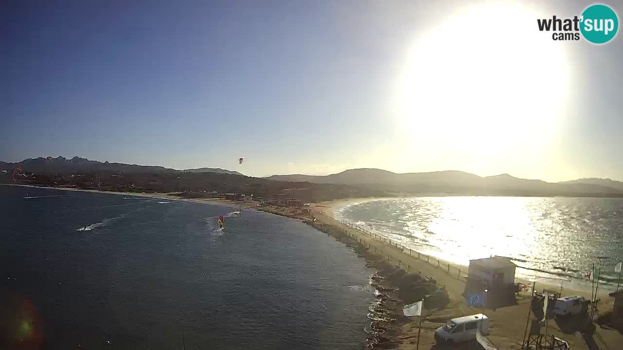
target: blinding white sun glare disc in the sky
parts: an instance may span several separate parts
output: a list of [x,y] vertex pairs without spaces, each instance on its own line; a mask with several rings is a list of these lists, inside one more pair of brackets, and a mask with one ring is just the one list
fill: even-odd
[[530,152],[554,138],[570,67],[536,18],[520,4],[487,4],[417,33],[392,95],[405,146]]

